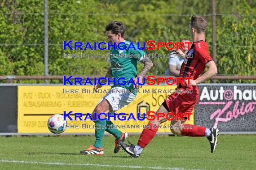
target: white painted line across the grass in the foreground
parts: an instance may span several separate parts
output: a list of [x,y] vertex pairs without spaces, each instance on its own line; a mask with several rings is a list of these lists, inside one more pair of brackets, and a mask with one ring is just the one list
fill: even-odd
[[37,162],[37,161],[10,161],[0,160],[0,162],[8,163],[26,163],[26,164],[44,164],[44,165],[67,165],[67,166],[100,166],[100,167],[117,167],[117,168],[131,168],[131,169],[153,169],[153,170],[185,170],[184,168],[171,168],[171,167],[150,167],[150,166],[122,166],[122,165],[101,165],[101,164],[90,164],[90,163],[64,163],[64,162]]

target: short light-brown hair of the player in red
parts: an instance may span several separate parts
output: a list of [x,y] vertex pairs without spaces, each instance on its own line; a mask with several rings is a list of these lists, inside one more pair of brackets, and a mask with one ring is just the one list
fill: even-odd
[[205,32],[207,30],[207,21],[203,17],[193,15],[190,20],[190,26],[196,29],[198,33]]

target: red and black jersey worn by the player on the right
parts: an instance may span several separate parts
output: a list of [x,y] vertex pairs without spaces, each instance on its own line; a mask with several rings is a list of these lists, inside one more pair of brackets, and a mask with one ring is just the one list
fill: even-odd
[[[180,77],[192,77],[192,79],[195,80],[203,73],[205,64],[212,61],[212,57],[208,52],[207,43],[202,40],[193,42],[187,55],[191,56],[191,58],[184,59],[181,65]],[[179,85],[179,88],[192,89],[193,87]]]

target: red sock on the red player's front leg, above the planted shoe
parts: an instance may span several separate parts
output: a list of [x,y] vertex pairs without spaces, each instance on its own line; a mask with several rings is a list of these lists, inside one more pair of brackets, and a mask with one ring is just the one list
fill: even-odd
[[[152,123],[148,123],[147,126],[150,126],[149,129],[143,129],[140,139],[138,141],[138,145],[145,148],[147,144],[154,138],[156,132],[158,131],[158,125],[153,125]],[[154,128],[153,128],[154,127]]]

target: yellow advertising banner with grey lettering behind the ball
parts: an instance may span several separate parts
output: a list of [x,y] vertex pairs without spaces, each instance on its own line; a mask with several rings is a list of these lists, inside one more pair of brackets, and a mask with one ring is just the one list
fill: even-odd
[[[103,86],[101,89],[108,90],[110,86]],[[142,132],[143,125],[146,125],[148,120],[137,120],[137,113],[142,116],[148,111],[156,111],[163,103],[164,99],[170,93],[163,93],[163,90],[175,89],[176,86],[168,85],[145,85],[137,93],[135,100],[128,106],[116,111],[116,113],[125,113],[126,119],[133,113],[136,120],[110,120],[121,127],[129,125],[130,128],[120,128],[125,132]],[[65,89],[65,90],[64,90]],[[76,90],[78,93],[63,93],[66,90]],[[90,90],[91,93],[82,93],[84,89]],[[156,93],[153,93],[156,92]],[[68,125],[77,125],[79,128],[66,129],[64,133],[94,133],[93,121],[86,120],[87,113],[92,113],[93,109],[106,93],[93,93],[93,86],[18,86],[18,133],[49,133],[47,121],[51,115],[63,115],[64,111],[70,114],[73,121],[67,119]],[[74,113],[82,113],[83,120],[75,120]],[[120,116],[121,117],[121,116]],[[141,117],[143,118],[143,117]],[[190,121],[187,123],[194,124],[194,114],[190,116]],[[82,124],[90,125],[82,128]],[[132,126],[133,125],[133,126]],[[163,125],[170,125],[170,121],[166,121]],[[123,126],[124,127],[124,126]],[[132,128],[136,127],[136,128]],[[138,128],[139,127],[139,128]],[[169,128],[159,128],[158,132],[171,132]]]

